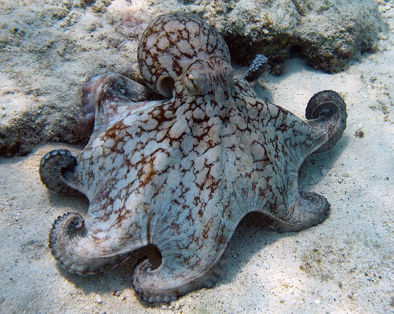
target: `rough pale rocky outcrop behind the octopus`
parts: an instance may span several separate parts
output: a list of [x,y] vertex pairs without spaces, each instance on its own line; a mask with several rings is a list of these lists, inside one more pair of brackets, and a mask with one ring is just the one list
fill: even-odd
[[84,144],[81,86],[116,72],[141,81],[139,37],[165,12],[199,14],[225,38],[233,64],[268,56],[279,74],[292,52],[337,72],[374,51],[382,20],[374,0],[4,1],[0,14],[0,154],[42,142]]

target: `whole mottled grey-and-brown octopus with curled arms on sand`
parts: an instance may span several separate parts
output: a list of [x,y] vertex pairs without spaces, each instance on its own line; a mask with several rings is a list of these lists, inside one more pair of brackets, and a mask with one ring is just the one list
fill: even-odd
[[61,266],[91,275],[132,258],[138,298],[170,302],[220,280],[248,213],[278,232],[323,222],[330,204],[299,191],[297,179],[305,158],[342,136],[338,93],[313,95],[305,120],[262,100],[252,85],[267,58],[234,77],[224,39],[190,13],[152,20],[138,64],[147,87],[119,74],[90,78],[89,142],[76,157],[58,149],[41,159],[49,190],[89,199],[84,218],[69,212],[53,223],[49,248]]

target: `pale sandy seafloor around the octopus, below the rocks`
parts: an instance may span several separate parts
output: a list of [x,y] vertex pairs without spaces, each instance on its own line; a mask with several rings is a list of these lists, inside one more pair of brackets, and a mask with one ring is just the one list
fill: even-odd
[[[393,7],[385,4],[391,27]],[[46,144],[25,157],[0,159],[0,312],[394,313],[394,36],[382,35],[378,47],[341,73],[312,69],[295,57],[282,75],[260,79],[262,98],[300,117],[322,89],[344,97],[342,139],[300,169],[301,188],[323,194],[331,214],[317,227],[283,234],[247,217],[233,235],[222,280],[170,304],[141,304],[127,262],[81,277],[51,256],[54,219],[68,211],[83,214],[88,204],[82,196],[47,191],[38,164],[52,149],[77,153],[77,147]]]

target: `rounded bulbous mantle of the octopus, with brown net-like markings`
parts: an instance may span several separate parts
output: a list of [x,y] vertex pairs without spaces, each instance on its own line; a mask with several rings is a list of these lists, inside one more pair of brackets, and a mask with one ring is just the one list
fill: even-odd
[[222,56],[230,63],[230,53],[220,34],[199,16],[174,12],[156,17],[142,34],[138,64],[145,83],[157,93],[159,78],[173,81],[196,59]]

